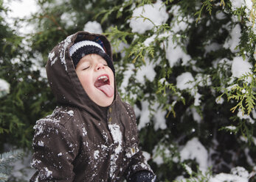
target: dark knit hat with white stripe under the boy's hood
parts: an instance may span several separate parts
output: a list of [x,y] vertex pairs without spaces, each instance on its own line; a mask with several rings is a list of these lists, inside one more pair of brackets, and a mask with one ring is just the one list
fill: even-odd
[[95,37],[94,40],[81,40],[69,48],[69,55],[72,58],[75,68],[80,59],[87,54],[98,54],[100,57],[103,57],[108,67],[115,73],[113,62],[108,54],[105,53],[103,42],[98,37]]

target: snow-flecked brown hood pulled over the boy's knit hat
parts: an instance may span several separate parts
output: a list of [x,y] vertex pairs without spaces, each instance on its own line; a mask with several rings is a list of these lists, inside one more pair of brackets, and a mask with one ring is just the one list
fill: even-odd
[[[98,106],[94,101],[91,101],[86,91],[75,72],[75,66],[72,58],[69,55],[69,48],[76,42],[81,40],[94,40],[99,37],[103,42],[105,52],[111,58],[113,63],[111,45],[107,38],[102,34],[91,34],[89,32],[77,32],[66,37],[65,40],[58,43],[55,48],[49,53],[48,61],[46,63],[46,73],[49,85],[52,89],[57,102],[63,105],[75,106],[80,109],[85,109],[90,114],[97,116],[105,109]],[[117,86],[115,81],[115,102],[117,98]],[[112,104],[113,104],[112,103]]]

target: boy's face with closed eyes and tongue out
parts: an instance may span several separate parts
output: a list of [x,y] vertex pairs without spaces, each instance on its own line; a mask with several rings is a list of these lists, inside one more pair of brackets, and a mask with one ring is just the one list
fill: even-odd
[[75,69],[87,95],[99,106],[109,106],[114,99],[114,73],[98,54],[88,54]]

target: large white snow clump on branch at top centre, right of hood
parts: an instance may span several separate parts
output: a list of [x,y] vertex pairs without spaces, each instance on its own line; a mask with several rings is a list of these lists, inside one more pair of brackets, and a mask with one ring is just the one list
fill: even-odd
[[[148,21],[148,19],[138,18],[140,16],[149,18],[153,23]],[[168,14],[166,12],[165,4],[163,4],[162,1],[158,0],[155,4],[145,4],[134,10],[130,21],[131,31],[144,34],[147,30],[151,30],[154,24],[159,26],[162,23],[165,23],[167,19]]]

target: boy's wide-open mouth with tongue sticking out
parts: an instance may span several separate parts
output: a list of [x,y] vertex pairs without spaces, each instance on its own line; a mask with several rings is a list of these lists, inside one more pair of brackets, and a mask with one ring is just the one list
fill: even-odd
[[109,98],[114,95],[114,88],[110,85],[108,75],[99,76],[94,82],[94,87],[105,93]]

